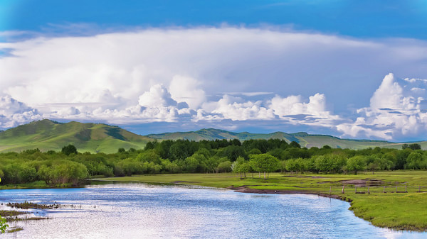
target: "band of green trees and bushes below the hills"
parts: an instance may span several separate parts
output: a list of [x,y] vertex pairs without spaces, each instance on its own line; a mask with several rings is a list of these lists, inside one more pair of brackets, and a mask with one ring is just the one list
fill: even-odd
[[78,185],[88,177],[133,174],[236,172],[356,173],[369,170],[427,169],[427,152],[418,144],[401,150],[302,148],[285,140],[162,140],[144,149],[119,148],[116,153],[78,152],[66,145],[60,152],[25,150],[0,154],[0,184],[43,181],[51,186]]

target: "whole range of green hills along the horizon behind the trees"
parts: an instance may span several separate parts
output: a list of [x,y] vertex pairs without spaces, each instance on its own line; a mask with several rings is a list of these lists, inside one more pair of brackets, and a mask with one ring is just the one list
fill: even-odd
[[[310,135],[308,133],[234,133],[215,128],[201,129],[189,132],[159,133],[137,135],[118,126],[103,123],[58,123],[44,119],[33,121],[16,128],[0,131],[0,152],[28,150],[39,148],[42,151],[60,150],[64,145],[73,144],[79,152],[117,152],[118,148],[143,148],[152,140],[216,140],[216,139],[270,139],[278,138],[288,142],[296,141],[303,147],[321,148],[330,145],[332,148],[401,148],[403,143],[393,143],[381,140],[349,140],[330,135]],[[427,148],[427,141],[417,142],[422,148]]]

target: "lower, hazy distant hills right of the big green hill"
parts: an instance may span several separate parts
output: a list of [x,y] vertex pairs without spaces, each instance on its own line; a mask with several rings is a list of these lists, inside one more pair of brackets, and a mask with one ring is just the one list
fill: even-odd
[[[250,139],[270,139],[278,138],[289,142],[296,141],[303,147],[321,148],[323,145],[330,145],[332,148],[351,148],[351,149],[362,149],[362,148],[401,148],[403,143],[393,143],[381,140],[350,140],[337,138],[330,135],[310,135],[305,132],[299,133],[234,133],[226,130],[218,130],[215,128],[204,128],[197,131],[189,132],[176,132],[176,133],[159,133],[146,135],[149,138],[157,140],[216,140],[216,139],[234,139],[238,140],[250,140]],[[422,148],[427,148],[427,141],[416,142],[421,145]]]

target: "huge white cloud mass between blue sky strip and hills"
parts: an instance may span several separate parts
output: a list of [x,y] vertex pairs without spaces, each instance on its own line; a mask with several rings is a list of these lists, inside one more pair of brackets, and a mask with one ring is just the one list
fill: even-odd
[[[426,131],[425,80],[371,83],[394,68],[423,76],[423,41],[224,27],[38,36],[1,50],[1,129],[54,118],[274,121],[354,138]],[[357,117],[343,116],[350,104]]]

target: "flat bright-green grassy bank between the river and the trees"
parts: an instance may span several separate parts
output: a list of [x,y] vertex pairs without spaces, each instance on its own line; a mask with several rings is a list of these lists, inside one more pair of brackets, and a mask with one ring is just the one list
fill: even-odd
[[302,192],[323,196],[331,194],[333,197],[351,201],[350,209],[354,214],[371,222],[374,226],[399,230],[427,230],[426,171],[375,172],[375,174],[362,172],[358,175],[274,173],[270,174],[267,180],[262,176],[258,178],[258,174],[253,174],[253,177],[252,174],[246,174],[246,176],[246,179],[240,179],[238,175],[229,173],[155,174],[104,179],[119,182],[234,187],[265,193],[277,191],[278,193]]

